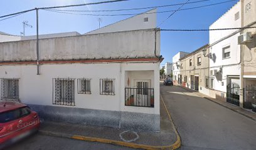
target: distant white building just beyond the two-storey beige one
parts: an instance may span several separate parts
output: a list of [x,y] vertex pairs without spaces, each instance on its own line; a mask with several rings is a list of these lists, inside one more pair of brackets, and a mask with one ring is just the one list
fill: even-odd
[[173,56],[173,83],[181,84],[181,78],[180,78],[180,68],[181,64],[179,59],[183,58],[184,56],[188,55],[189,53],[180,51],[176,55]]

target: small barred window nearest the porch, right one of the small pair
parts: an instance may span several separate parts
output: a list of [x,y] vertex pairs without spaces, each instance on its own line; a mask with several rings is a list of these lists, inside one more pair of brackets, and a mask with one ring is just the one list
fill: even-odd
[[115,79],[100,79],[100,94],[115,95]]

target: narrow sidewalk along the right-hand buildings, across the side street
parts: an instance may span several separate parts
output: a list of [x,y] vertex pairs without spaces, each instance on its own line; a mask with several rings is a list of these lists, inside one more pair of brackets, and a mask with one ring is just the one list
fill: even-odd
[[198,91],[194,91],[193,89],[185,88],[183,86],[180,86],[183,89],[186,89],[188,91],[194,92],[198,94],[199,96],[206,98],[216,104],[220,104],[221,106],[228,108],[232,111],[235,111],[238,114],[242,114],[243,116],[252,119],[253,121],[256,121],[256,113],[253,113],[252,111],[248,111],[247,109],[240,108],[239,106],[235,106],[233,104],[227,103],[225,101],[221,101],[220,99],[211,98],[210,96],[207,96],[205,94],[199,93]]

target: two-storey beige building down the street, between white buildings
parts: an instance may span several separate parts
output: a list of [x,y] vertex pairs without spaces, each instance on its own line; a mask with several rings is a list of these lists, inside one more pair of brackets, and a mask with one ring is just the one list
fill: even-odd
[[179,59],[182,86],[209,94],[208,44]]

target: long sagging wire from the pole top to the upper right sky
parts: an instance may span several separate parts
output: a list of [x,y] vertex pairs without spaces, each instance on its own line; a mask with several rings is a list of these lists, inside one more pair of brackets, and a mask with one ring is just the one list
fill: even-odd
[[[237,0],[230,0],[230,1],[223,1],[223,2],[217,2],[214,4],[207,4],[207,5],[203,5],[203,6],[196,6],[196,7],[192,7],[192,8],[184,8],[184,9],[179,9],[178,11],[186,11],[189,9],[197,9],[197,8],[205,8],[208,6],[215,6],[218,4],[224,4],[227,2],[232,2],[232,1],[237,1]],[[73,15],[82,15],[82,16],[132,16],[132,15],[137,15],[137,14],[159,14],[159,13],[166,13],[166,12],[175,12],[177,10],[169,10],[169,11],[158,11],[158,12],[142,12],[142,13],[132,13],[132,14],[81,14],[81,13],[73,13],[70,12],[70,10],[68,10],[68,12],[65,12],[65,10],[62,11],[57,11],[55,9],[44,9],[45,11],[52,11],[52,12],[58,12],[58,13],[62,13],[62,14],[73,14]]]

